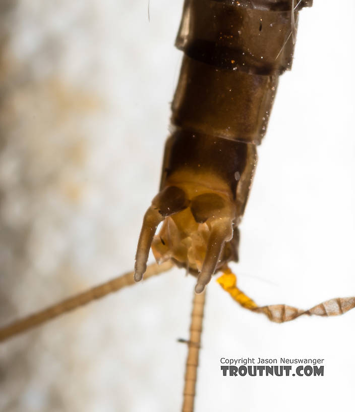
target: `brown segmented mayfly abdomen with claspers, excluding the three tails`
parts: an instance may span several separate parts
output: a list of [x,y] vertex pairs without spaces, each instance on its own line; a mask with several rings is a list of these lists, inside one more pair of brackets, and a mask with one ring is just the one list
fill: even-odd
[[[160,192],[136,255],[138,281],[150,246],[198,274],[238,261],[239,232],[278,76],[290,69],[301,0],[186,0],[176,46],[185,56],[172,101]],[[168,204],[168,207],[167,207]],[[154,236],[164,221],[158,236]]]

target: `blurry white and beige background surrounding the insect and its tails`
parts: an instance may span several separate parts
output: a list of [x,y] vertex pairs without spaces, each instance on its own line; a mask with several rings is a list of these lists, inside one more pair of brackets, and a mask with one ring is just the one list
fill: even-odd
[[[0,321],[131,270],[156,194],[182,2],[1,3]],[[241,226],[239,285],[308,308],[355,294],[352,0],[300,14]],[[174,270],[0,345],[0,410],[180,410],[195,280]],[[197,411],[353,402],[354,313],[278,325],[207,288]],[[324,377],[222,377],[221,357]]]

